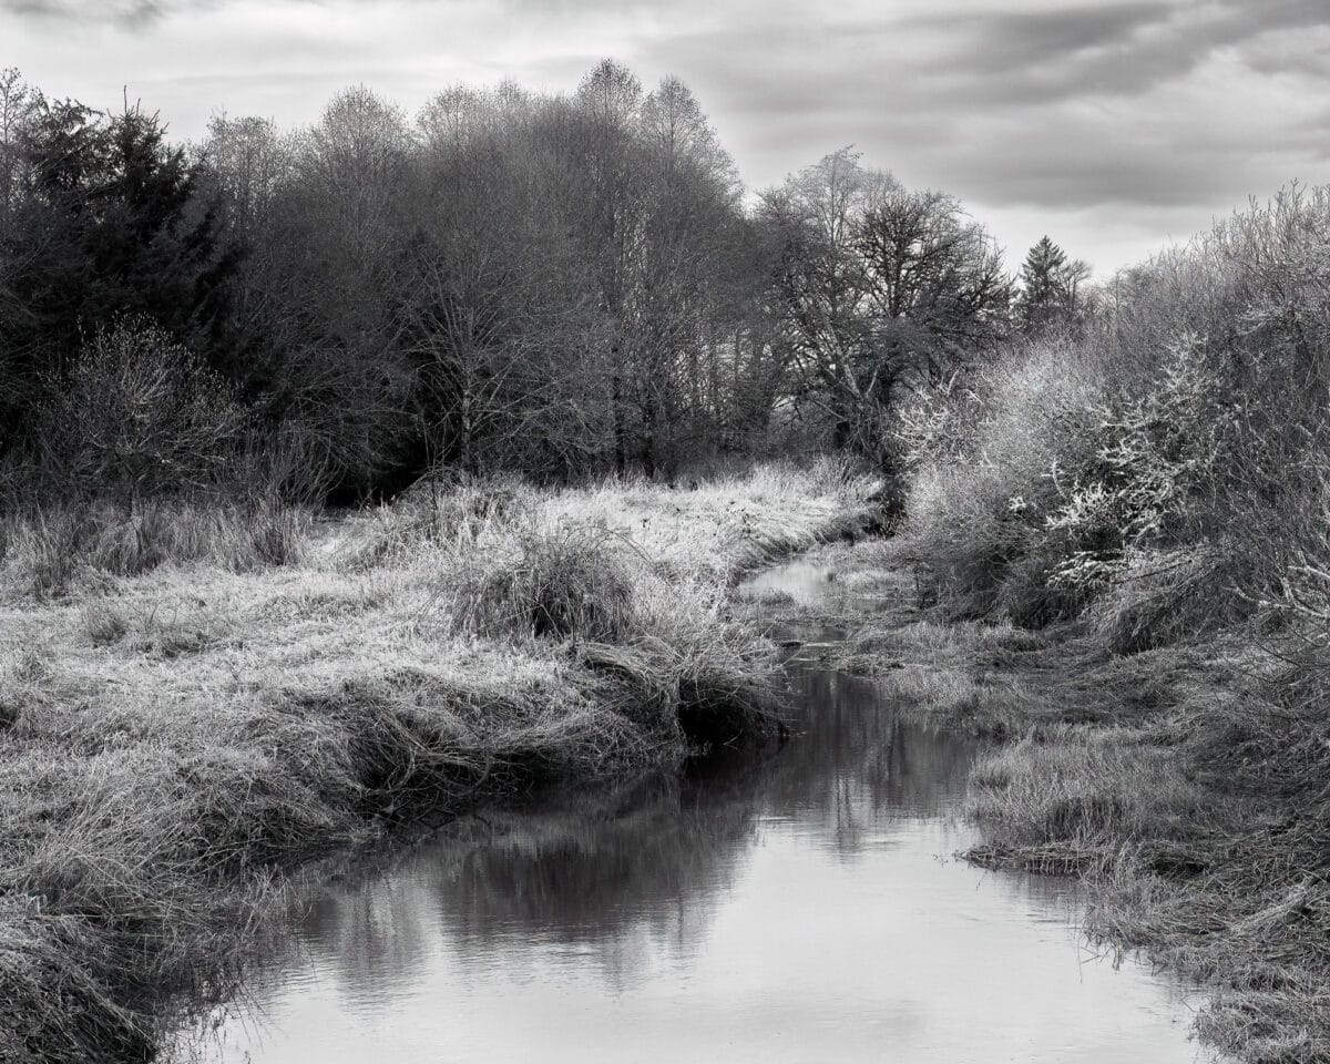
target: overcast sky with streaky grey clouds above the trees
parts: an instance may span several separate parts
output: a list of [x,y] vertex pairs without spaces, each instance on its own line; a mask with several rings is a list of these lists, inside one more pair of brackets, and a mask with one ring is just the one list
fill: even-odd
[[1048,234],[1108,277],[1297,180],[1330,182],[1330,0],[0,0],[48,96],[313,121],[366,84],[415,112],[600,59],[681,77],[747,188],[853,145],[958,196],[1015,269]]

